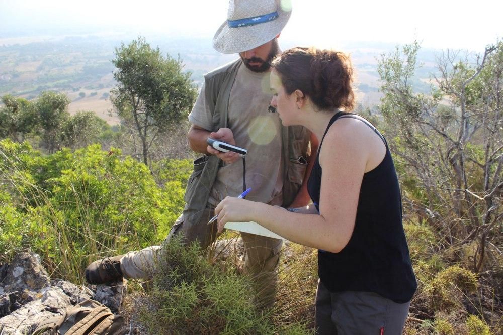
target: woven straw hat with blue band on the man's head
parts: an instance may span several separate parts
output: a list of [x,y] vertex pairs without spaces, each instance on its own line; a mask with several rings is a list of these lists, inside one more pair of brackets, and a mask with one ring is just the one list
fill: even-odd
[[254,49],[281,33],[291,13],[289,0],[230,0],[213,48],[224,54]]

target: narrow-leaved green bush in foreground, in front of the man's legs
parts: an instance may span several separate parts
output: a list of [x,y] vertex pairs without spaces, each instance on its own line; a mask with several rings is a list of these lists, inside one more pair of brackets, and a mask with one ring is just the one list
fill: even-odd
[[[271,314],[252,301],[249,277],[212,267],[194,243],[174,238],[164,248],[153,289],[138,306],[150,334],[274,334]],[[293,322],[292,322],[293,323]],[[282,334],[307,334],[302,323],[283,324]]]

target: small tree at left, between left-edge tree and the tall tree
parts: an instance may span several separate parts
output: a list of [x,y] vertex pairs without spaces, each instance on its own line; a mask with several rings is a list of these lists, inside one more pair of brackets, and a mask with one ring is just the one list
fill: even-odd
[[42,92],[34,102],[38,116],[37,134],[42,140],[42,146],[49,153],[59,149],[62,141],[62,127],[70,117],[68,105],[70,100],[64,93],[52,91]]

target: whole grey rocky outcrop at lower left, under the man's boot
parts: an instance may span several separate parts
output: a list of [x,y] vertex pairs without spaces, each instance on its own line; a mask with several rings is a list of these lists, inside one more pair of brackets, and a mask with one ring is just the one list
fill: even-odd
[[0,334],[31,334],[41,322],[89,298],[117,312],[124,291],[123,282],[98,285],[95,293],[62,279],[51,281],[37,254],[19,253],[10,265],[0,266]]

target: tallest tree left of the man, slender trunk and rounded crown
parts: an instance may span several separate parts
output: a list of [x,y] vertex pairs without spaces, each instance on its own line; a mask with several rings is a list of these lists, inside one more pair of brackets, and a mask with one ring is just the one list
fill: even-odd
[[118,82],[111,91],[112,103],[140,138],[143,163],[148,165],[156,137],[185,118],[194,103],[190,73],[183,73],[180,59],[164,58],[141,37],[116,48],[112,62]]

